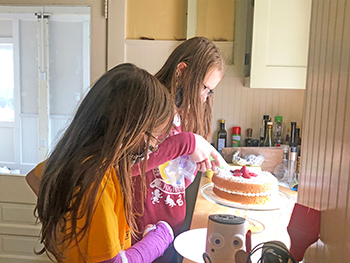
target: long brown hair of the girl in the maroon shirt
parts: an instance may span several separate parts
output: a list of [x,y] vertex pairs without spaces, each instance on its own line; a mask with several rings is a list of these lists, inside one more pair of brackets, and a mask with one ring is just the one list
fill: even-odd
[[[178,65],[187,67],[178,76]],[[202,135],[207,140],[211,134],[212,98],[201,101],[205,76],[219,70],[225,72],[225,62],[215,44],[205,37],[194,37],[180,44],[169,56],[156,77],[176,98],[182,119],[183,131]]]

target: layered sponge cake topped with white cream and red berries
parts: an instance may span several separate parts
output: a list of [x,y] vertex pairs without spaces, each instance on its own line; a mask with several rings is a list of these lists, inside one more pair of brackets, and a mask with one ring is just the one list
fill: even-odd
[[[253,170],[253,169],[251,169]],[[248,167],[219,169],[213,174],[213,192],[224,199],[241,204],[266,204],[278,192],[277,178],[269,172]]]

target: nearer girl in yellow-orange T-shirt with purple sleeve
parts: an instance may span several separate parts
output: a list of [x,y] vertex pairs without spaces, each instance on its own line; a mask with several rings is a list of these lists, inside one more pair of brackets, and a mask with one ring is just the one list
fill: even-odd
[[[96,82],[46,161],[36,208],[45,246],[39,254],[59,262],[152,262],[163,253],[173,239],[165,222],[130,247],[137,232],[131,166],[157,147],[172,119],[169,93],[132,64]],[[147,158],[142,182],[146,165]]]

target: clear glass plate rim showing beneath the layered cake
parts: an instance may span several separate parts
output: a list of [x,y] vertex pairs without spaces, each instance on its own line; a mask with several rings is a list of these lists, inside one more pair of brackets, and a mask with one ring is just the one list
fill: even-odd
[[278,210],[280,207],[282,207],[283,204],[289,199],[289,196],[279,191],[278,194],[271,197],[271,201],[264,205],[245,205],[240,203],[235,203],[232,201],[228,201],[226,199],[223,199],[219,196],[217,196],[213,192],[213,183],[209,183],[206,185],[203,185],[201,188],[201,193],[207,200],[214,202],[219,205],[231,207],[231,208],[237,208],[237,209],[243,209],[243,210],[252,210],[252,211],[270,211],[270,210]]

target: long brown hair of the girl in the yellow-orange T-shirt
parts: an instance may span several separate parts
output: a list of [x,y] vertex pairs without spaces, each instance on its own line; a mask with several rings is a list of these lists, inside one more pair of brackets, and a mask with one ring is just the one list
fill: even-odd
[[[41,241],[58,261],[64,258],[63,245],[79,242],[85,235],[99,200],[102,179],[112,168],[124,197],[127,223],[135,233],[130,154],[138,144],[144,144],[144,134],[152,134],[160,124],[167,122],[164,133],[169,132],[173,105],[163,85],[132,64],[109,70],[90,89],[47,160],[39,190]],[[145,167],[146,161],[143,191]],[[81,218],[86,220],[78,229]]]

